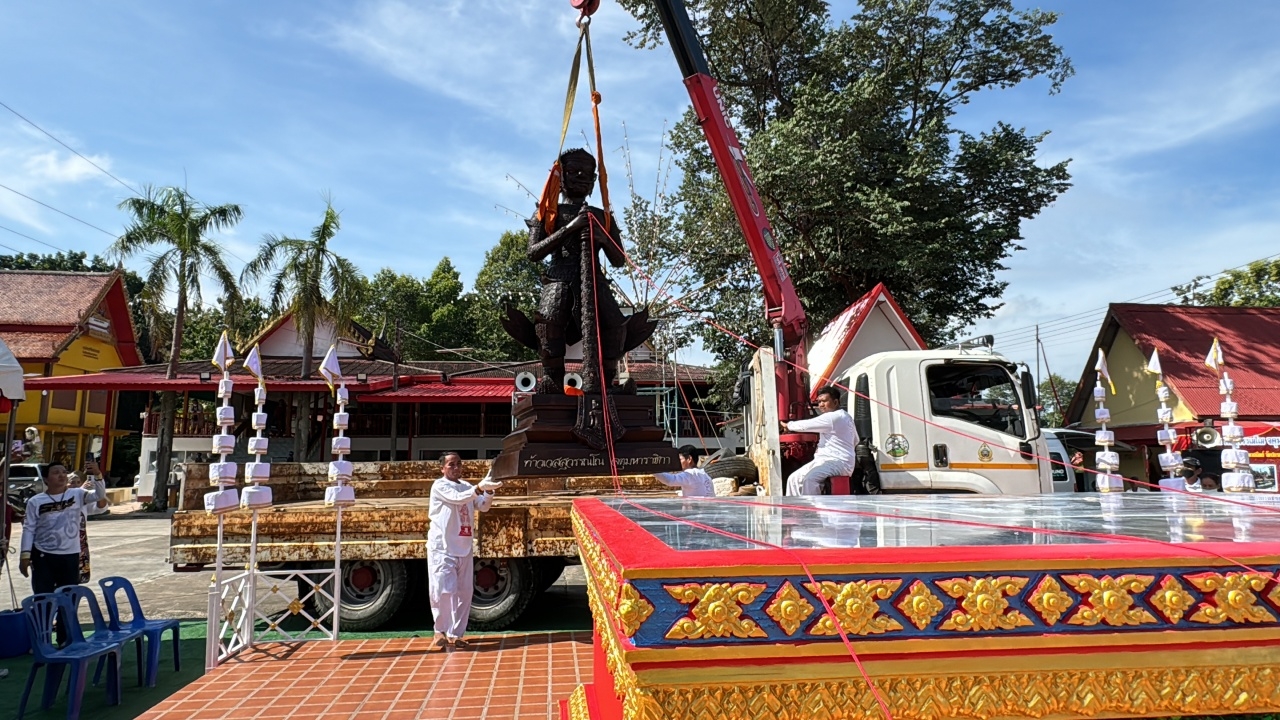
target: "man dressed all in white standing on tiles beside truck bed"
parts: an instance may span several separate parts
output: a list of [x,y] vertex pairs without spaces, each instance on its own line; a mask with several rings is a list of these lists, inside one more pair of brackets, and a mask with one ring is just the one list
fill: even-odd
[[430,583],[431,618],[435,637],[428,652],[445,646],[467,647],[462,635],[471,615],[471,591],[475,585],[475,564],[471,560],[471,538],[475,514],[489,510],[493,491],[502,483],[485,478],[479,487],[462,479],[462,456],[445,452],[440,456],[444,477],[431,483],[431,503],[426,530],[426,571]]

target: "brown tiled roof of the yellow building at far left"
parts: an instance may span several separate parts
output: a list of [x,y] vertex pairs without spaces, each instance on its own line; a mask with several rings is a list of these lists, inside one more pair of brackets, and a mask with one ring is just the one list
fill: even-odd
[[0,340],[19,360],[55,360],[99,309],[111,319],[120,361],[142,363],[120,270],[0,270]]

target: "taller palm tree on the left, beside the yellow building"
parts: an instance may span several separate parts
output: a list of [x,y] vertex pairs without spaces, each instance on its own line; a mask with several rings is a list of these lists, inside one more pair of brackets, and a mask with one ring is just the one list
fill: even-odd
[[[164,314],[163,299],[173,292],[177,307],[173,313],[173,336],[169,343],[169,368],[165,377],[178,377],[182,355],[182,331],[191,302],[201,302],[201,275],[218,286],[228,315],[239,305],[239,287],[236,275],[227,268],[221,247],[207,236],[234,225],[243,217],[239,205],[207,206],[197,202],[186,190],[178,187],[154,188],[147,186],[138,197],[120,202],[132,220],[111,243],[110,254],[123,260],[145,250],[152,250],[146,272],[145,300],[152,327]],[[160,323],[163,324],[163,322]],[[173,423],[177,413],[177,393],[160,393],[160,433],[156,438],[155,506],[165,510],[169,503],[169,457],[173,454]]]

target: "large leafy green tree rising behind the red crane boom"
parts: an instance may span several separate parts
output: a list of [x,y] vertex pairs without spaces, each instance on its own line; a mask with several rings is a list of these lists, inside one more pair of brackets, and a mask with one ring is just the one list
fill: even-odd
[[[662,41],[648,0],[620,0],[640,22],[630,40]],[[774,220],[810,327],[883,282],[931,342],[989,316],[1021,220],[1064,192],[1066,163],[1036,161],[1043,133],[997,123],[955,127],[983,90],[1073,73],[1047,33],[1056,15],[1009,0],[867,0],[831,22],[819,0],[689,0],[724,108]],[[714,19],[714,22],[713,22]],[[698,309],[768,340],[759,278],[691,110],[671,145],[684,181],[678,232],[641,252],[681,259]],[[649,242],[637,238],[637,242]],[[722,360],[744,350],[704,329]]]

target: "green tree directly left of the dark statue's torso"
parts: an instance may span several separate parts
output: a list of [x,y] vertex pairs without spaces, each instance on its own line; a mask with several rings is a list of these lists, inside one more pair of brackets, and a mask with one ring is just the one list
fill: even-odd
[[484,255],[472,287],[476,357],[495,361],[534,360],[538,354],[502,328],[502,305],[511,302],[532,318],[541,290],[541,265],[529,259],[529,234],[508,231]]

